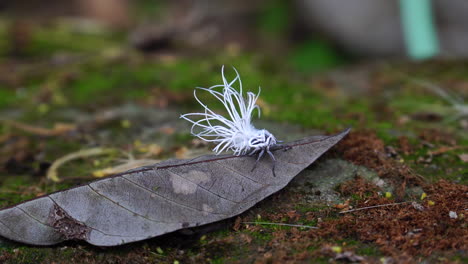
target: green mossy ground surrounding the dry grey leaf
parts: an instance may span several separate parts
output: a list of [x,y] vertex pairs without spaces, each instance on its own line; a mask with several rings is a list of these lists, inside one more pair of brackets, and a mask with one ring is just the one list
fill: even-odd
[[[0,36],[6,34],[6,24],[0,23]],[[6,39],[0,38],[0,47],[4,47],[0,50],[8,50]],[[117,114],[104,120],[99,117],[104,110],[128,103],[156,112],[170,109],[172,113],[185,113],[196,109],[193,88],[219,83],[221,65],[228,66],[228,72],[231,65],[237,68],[244,89],[257,91],[258,86],[262,87],[259,101],[262,119],[278,127],[290,123],[300,125],[304,131],[318,129],[323,133],[348,126],[354,131],[370,131],[383,142],[383,155],[408,166],[428,184],[440,179],[467,184],[467,163],[461,158],[468,153],[466,117],[452,119],[456,113],[450,104],[411,82],[411,79],[422,79],[437,83],[466,98],[468,67],[465,62],[362,65],[359,67],[366,72],[365,77],[355,83],[343,83],[342,77],[353,79],[351,69],[310,74],[320,65],[305,67],[303,61],[297,62],[302,47],[286,60],[232,48],[203,54],[174,52],[147,56],[120,44],[121,40],[118,34],[72,34],[64,26],[40,28],[34,35],[33,45],[27,49],[26,58],[0,59],[1,207],[89,181],[94,171],[122,163],[120,159],[127,158],[125,153],[135,158],[165,159],[186,157],[187,149],[196,147],[207,150],[207,146],[192,142],[188,130],[179,125],[177,114],[173,121],[167,122],[168,126],[156,132],[151,132],[154,129],[151,121],[141,119],[145,113],[141,109],[136,115]],[[52,55],[57,56],[57,51],[60,59],[51,59]],[[305,52],[314,54],[310,50]],[[330,63],[326,59],[325,68],[335,61],[339,60]],[[356,88],[361,84],[364,90]],[[21,122],[33,129],[5,120]],[[53,127],[60,123],[74,127],[59,133]],[[34,128],[47,128],[49,134]],[[161,151],[156,147],[145,148],[154,142],[158,142]],[[46,168],[53,161],[96,146],[118,149],[120,154],[74,160],[59,168],[62,183],[46,180]],[[330,155],[344,158],[337,151]],[[350,197],[355,203],[362,200],[357,194]],[[239,219],[315,226],[340,217],[336,208],[307,204],[301,200],[301,194],[286,188]],[[386,256],[378,245],[359,236],[315,239],[305,246],[296,242],[303,241],[311,232],[302,228],[227,223],[221,231],[189,239],[166,235],[116,248],[97,248],[79,242],[54,247],[2,242],[0,262],[268,263],[274,262],[271,253],[274,248],[279,252],[275,253],[278,260],[327,263],[331,255],[323,250],[324,245],[351,250],[371,262]],[[188,242],[181,243],[183,240]],[[278,245],[281,243],[284,244]],[[466,253],[449,250],[423,257],[466,261]]]

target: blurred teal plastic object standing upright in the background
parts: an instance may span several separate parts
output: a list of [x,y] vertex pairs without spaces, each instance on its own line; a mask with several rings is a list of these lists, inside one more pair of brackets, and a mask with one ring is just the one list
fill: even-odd
[[422,60],[439,54],[431,1],[400,0],[400,13],[408,55]]

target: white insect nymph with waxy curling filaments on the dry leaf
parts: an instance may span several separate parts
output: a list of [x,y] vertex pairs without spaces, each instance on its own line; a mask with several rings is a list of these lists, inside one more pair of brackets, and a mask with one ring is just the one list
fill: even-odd
[[[191,122],[192,135],[216,144],[213,149],[216,154],[223,151],[233,151],[234,155],[254,155],[258,154],[260,159],[265,153],[275,160],[270,151],[277,141],[275,136],[265,129],[256,129],[252,123],[252,114],[257,109],[260,117],[260,108],[256,105],[258,94],[247,92],[247,98],[242,94],[242,82],[236,69],[236,77],[228,82],[224,76],[224,66],[221,69],[223,84],[214,85],[210,88],[197,87],[198,90],[209,92],[219,100],[226,109],[227,117],[212,111],[197,97],[197,90],[194,91],[195,99],[204,108],[203,113],[188,113],[181,115],[181,118]],[[239,83],[239,91],[232,86]],[[201,117],[199,120],[191,118]],[[257,159],[257,161],[258,161]]]

